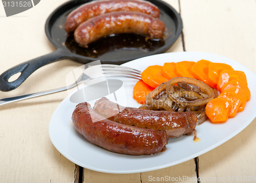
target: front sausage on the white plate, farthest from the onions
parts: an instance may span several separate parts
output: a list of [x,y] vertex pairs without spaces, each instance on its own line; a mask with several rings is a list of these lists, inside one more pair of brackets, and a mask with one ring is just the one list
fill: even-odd
[[142,155],[166,149],[165,131],[143,129],[119,124],[95,112],[87,102],[76,106],[72,121],[75,129],[91,143],[113,152]]

